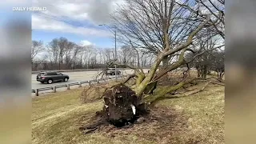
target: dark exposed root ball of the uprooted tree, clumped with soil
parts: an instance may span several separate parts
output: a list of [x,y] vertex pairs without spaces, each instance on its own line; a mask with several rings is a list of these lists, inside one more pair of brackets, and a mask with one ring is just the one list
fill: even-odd
[[128,86],[118,84],[103,94],[104,106],[102,111],[98,111],[93,124],[84,126],[80,130],[94,131],[102,124],[112,124],[117,127],[129,125],[144,114],[148,114],[148,109],[142,98],[135,95],[135,92]]

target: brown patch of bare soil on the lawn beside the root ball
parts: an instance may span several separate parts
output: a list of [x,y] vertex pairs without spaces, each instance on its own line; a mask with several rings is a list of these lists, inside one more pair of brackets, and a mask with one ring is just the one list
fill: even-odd
[[[84,119],[81,119],[80,123]],[[150,113],[138,118],[130,125],[115,127],[110,124],[99,126],[93,133],[103,134],[108,138],[127,138],[127,135],[133,134],[138,138],[156,143],[179,143],[184,142],[180,137],[186,134],[188,130],[188,118],[180,110],[166,108],[164,106],[153,107]],[[181,139],[182,138],[182,139]],[[187,140],[186,143],[198,143]]]

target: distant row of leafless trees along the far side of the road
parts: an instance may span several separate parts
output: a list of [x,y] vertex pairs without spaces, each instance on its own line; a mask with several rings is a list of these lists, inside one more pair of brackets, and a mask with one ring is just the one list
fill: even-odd
[[[118,62],[142,67],[154,62],[152,54],[143,54],[130,46],[117,49]],[[49,43],[33,41],[31,50],[32,70],[74,70],[106,68],[107,62],[114,59],[114,48],[81,46],[66,38],[54,38]],[[138,61],[139,59],[139,61]]]

